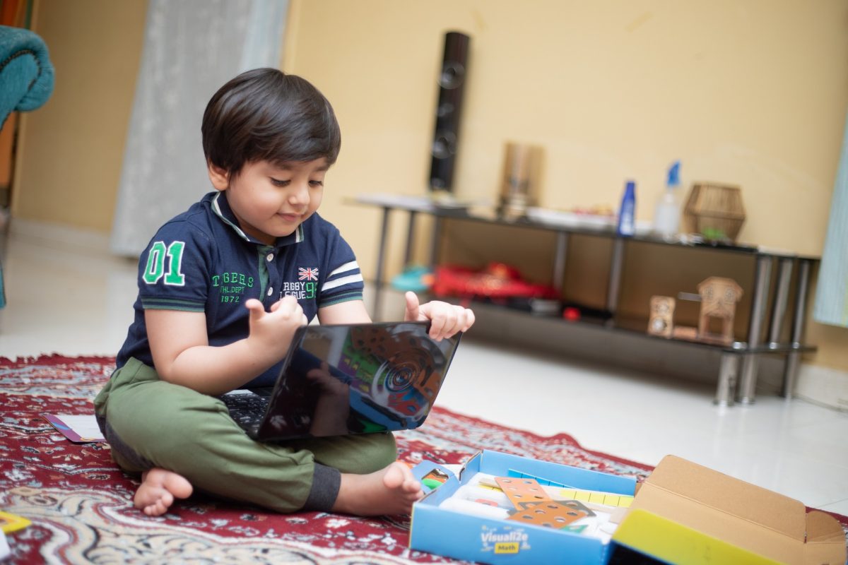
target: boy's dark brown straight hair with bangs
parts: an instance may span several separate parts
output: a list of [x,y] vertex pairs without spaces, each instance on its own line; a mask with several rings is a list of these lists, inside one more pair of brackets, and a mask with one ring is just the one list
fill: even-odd
[[209,100],[200,127],[209,163],[232,175],[245,163],[336,162],[342,136],[315,86],[278,69],[248,70]]

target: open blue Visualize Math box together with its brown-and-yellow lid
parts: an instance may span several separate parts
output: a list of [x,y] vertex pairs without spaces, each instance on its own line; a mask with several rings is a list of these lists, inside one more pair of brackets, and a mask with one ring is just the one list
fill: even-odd
[[[680,457],[664,457],[636,489],[635,480],[586,469],[481,451],[458,476],[449,474],[412,511],[410,547],[448,557],[510,565],[604,565],[619,546],[672,564],[791,563],[845,565],[845,532],[824,512],[806,512],[800,501],[750,485]],[[507,476],[510,470],[578,489],[636,494],[610,543],[564,530],[511,520],[479,518],[439,508],[474,474]]]

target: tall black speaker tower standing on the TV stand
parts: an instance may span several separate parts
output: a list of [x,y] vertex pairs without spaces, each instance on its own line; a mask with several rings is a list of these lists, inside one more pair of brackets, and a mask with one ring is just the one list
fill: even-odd
[[453,190],[454,164],[470,41],[469,36],[458,31],[449,31],[444,36],[442,72],[438,77],[436,133],[432,141],[431,191]]

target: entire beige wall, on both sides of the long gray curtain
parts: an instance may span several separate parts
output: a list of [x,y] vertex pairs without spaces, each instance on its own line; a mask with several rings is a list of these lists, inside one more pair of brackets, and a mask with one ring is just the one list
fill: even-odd
[[[27,116],[14,214],[105,233],[146,3],[38,8],[57,89]],[[695,180],[742,187],[740,239],[819,254],[848,108],[846,17],[844,0],[293,0],[282,68],[312,80],[336,108],[343,149],[321,212],[366,274],[380,215],[347,200],[426,192],[446,30],[472,37],[461,199],[494,201],[504,144],[523,141],[544,147],[545,207],[615,208],[633,178],[637,216],[650,220],[679,158],[687,189]],[[402,217],[394,220],[391,272],[405,236]],[[516,246],[499,239],[466,258],[482,263],[491,249]],[[523,254],[542,262],[546,248],[533,243]],[[811,323],[808,335],[820,346],[813,363],[848,370],[848,330]]]

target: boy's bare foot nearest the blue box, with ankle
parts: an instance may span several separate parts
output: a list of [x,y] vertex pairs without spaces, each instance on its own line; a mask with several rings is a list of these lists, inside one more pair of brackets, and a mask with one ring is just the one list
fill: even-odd
[[356,516],[409,514],[421,496],[421,483],[410,468],[395,461],[371,474],[343,473],[332,510]]

